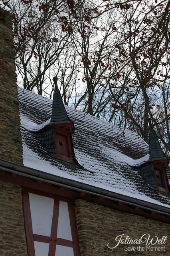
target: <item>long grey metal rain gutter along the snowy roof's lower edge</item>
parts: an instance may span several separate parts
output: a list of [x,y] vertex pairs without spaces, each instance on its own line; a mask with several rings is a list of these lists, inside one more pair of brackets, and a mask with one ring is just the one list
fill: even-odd
[[38,179],[40,181],[45,181],[51,184],[67,187],[69,189],[85,192],[94,196],[115,200],[117,202],[130,204],[132,206],[142,207],[146,210],[150,210],[150,211],[154,211],[160,214],[165,214],[170,216],[170,208],[168,207],[160,206],[157,204],[146,202],[144,200],[132,198],[130,196],[125,196],[125,195],[115,193],[106,189],[101,189],[99,187],[88,185],[80,181],[74,181],[71,179],[62,178],[57,175],[45,173],[43,171],[32,169],[24,165],[6,161],[4,159],[0,159],[0,169],[2,169],[3,171],[9,171],[11,173],[15,173],[25,177]]

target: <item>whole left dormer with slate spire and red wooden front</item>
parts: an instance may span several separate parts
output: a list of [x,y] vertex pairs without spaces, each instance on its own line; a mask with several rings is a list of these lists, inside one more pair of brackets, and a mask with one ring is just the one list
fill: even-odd
[[57,77],[54,77],[53,81],[55,83],[55,90],[53,94],[51,119],[36,135],[39,137],[43,149],[52,157],[69,163],[77,163],[71,138],[74,125],[67,116],[57,87]]

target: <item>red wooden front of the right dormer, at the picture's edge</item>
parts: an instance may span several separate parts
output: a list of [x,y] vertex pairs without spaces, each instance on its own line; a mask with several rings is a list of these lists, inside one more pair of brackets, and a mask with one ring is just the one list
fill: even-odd
[[166,180],[165,168],[168,165],[169,159],[155,160],[152,162],[154,174],[156,177],[157,189],[159,191],[170,194],[168,183]]

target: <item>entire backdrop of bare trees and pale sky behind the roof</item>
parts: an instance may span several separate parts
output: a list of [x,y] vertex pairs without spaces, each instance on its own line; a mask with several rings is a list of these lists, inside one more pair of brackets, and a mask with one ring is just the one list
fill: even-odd
[[18,77],[52,96],[137,132],[148,117],[170,152],[170,0],[9,0],[15,15]]

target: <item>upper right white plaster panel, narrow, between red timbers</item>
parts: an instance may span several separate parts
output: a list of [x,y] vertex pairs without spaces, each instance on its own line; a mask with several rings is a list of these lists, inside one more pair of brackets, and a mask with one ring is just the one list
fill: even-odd
[[62,201],[59,202],[57,238],[72,241],[68,204]]

